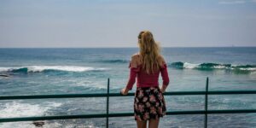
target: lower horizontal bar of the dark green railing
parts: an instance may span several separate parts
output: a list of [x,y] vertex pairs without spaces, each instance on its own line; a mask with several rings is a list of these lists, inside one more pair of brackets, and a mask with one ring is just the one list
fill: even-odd
[[[204,110],[189,110],[189,111],[172,111],[166,112],[166,115],[177,114],[203,114]],[[233,109],[233,110],[208,110],[208,114],[211,113],[256,113],[256,109]],[[133,116],[134,113],[109,113],[108,117],[127,117]],[[89,118],[106,118],[106,113],[96,114],[79,114],[79,115],[60,115],[60,116],[44,116],[44,117],[20,117],[20,118],[3,118],[0,119],[0,123],[3,122],[16,122],[16,121],[36,121],[36,120],[51,120],[51,119],[89,119]]]

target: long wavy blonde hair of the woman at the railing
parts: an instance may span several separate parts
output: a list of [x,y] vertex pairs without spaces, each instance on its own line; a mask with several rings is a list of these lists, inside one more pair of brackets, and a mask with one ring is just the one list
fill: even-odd
[[163,65],[163,58],[160,55],[160,46],[154,41],[153,34],[149,31],[142,31],[138,35],[142,65],[146,73],[154,73],[160,70]]

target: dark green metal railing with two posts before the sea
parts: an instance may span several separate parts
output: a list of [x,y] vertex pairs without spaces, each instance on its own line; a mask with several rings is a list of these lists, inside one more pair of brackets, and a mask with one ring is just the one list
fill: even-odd
[[[166,115],[174,114],[204,114],[204,127],[207,128],[207,114],[211,113],[256,113],[256,109],[227,109],[227,110],[208,110],[208,95],[235,95],[235,94],[256,94],[256,90],[215,90],[208,91],[209,79],[207,78],[206,91],[172,91],[165,92],[165,96],[180,96],[180,95],[205,95],[205,110],[188,110],[188,111],[172,111],[166,112]],[[107,93],[96,94],[63,94],[63,95],[36,95],[36,96],[0,96],[0,100],[20,100],[20,99],[48,99],[48,98],[80,98],[80,97],[107,97],[106,113],[96,114],[77,114],[77,115],[59,115],[59,116],[44,116],[44,117],[19,117],[19,118],[2,118],[0,123],[15,122],[15,121],[34,121],[34,120],[49,120],[49,119],[88,119],[88,118],[106,118],[106,127],[108,128],[108,118],[110,117],[126,117],[133,116],[134,113],[108,113],[109,97],[122,96],[120,93],[109,93],[109,79]],[[134,93],[129,93],[126,96],[134,96]]]

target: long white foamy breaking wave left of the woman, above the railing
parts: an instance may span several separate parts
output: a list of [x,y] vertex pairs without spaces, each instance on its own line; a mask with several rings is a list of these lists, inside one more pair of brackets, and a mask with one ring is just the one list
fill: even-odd
[[67,72],[86,72],[103,71],[108,68],[97,67],[78,67],[78,66],[29,66],[29,67],[0,67],[0,72],[12,72],[21,69],[27,69],[27,72],[44,72],[45,70],[67,71]]

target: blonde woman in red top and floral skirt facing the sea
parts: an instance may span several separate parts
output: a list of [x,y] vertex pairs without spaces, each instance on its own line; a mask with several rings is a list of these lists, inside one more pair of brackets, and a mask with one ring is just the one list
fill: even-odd
[[[157,128],[160,117],[166,114],[166,102],[162,93],[169,84],[166,61],[160,55],[160,47],[154,42],[151,32],[143,31],[138,36],[139,53],[131,56],[130,79],[121,90],[127,95],[137,78],[137,90],[134,98],[134,116],[138,128]],[[163,84],[159,87],[159,74]]]

